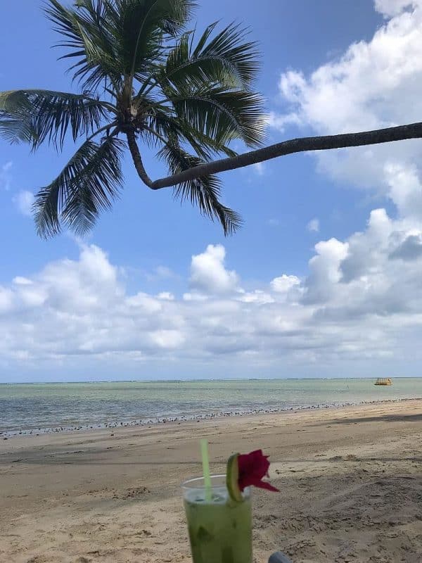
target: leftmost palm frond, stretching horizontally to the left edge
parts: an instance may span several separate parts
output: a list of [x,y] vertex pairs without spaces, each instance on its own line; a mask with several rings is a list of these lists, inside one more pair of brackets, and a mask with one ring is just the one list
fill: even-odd
[[45,140],[61,148],[69,129],[75,141],[100,127],[106,115],[106,103],[84,94],[35,89],[0,92],[0,135],[11,142],[28,142],[32,148]]

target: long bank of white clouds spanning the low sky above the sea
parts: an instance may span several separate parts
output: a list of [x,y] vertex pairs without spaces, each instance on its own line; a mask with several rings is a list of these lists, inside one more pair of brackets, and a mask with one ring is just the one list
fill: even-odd
[[116,366],[155,362],[162,374],[179,362],[198,377],[201,362],[226,365],[227,358],[239,372],[288,362],[290,374],[304,364],[390,362],[409,348],[417,361],[422,228],[414,223],[374,210],[363,232],[316,243],[303,281],[281,274],[245,291],[224,258],[224,248],[212,245],[192,257],[201,291],[190,297],[128,293],[122,268],[94,245],[82,247],[78,260],[16,276],[0,286],[1,361],[28,369],[64,362],[83,372],[89,358],[99,370],[114,358]]

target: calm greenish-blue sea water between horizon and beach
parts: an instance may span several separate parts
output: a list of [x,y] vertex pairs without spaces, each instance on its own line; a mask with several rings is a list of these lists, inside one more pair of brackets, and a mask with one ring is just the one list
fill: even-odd
[[0,384],[0,433],[422,398],[422,378]]

